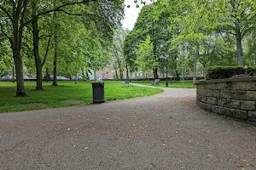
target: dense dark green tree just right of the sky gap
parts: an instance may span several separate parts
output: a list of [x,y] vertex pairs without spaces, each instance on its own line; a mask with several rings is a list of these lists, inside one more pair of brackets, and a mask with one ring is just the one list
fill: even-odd
[[[165,13],[161,13],[158,17],[155,17],[154,6],[154,3],[143,6],[133,30],[126,37],[124,44],[126,60],[132,60],[134,58],[132,50],[134,51],[137,48],[137,44],[143,42],[147,35],[151,37],[151,41],[154,44],[154,57],[159,63],[161,61],[161,56],[168,51],[167,41],[172,34],[172,31],[168,29],[169,21],[167,18],[169,17],[169,14],[166,11]],[[131,61],[130,64],[132,65]],[[160,65],[155,65],[155,67],[152,68],[154,78],[158,78],[159,67]]]

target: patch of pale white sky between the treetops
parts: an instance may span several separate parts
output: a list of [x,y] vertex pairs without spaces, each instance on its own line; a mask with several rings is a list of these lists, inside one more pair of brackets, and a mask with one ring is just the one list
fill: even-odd
[[137,16],[142,9],[142,5],[140,5],[140,8],[136,8],[136,4],[133,1],[134,0],[125,0],[125,6],[129,4],[131,7],[125,7],[125,19],[123,20],[123,27],[128,28],[129,30],[132,30],[134,24],[136,23]]

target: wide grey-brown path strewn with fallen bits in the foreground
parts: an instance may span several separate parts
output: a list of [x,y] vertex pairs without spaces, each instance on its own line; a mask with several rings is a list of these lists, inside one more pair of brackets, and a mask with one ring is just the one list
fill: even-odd
[[256,169],[256,128],[201,111],[195,89],[0,114],[0,169]]

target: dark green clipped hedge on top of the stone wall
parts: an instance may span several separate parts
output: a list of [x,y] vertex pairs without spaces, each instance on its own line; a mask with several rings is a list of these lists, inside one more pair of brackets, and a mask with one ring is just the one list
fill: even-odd
[[246,74],[247,76],[253,76],[256,74],[256,67],[248,67],[247,71],[242,66],[213,67],[207,70],[207,80],[231,78],[234,75],[241,75],[241,74]]

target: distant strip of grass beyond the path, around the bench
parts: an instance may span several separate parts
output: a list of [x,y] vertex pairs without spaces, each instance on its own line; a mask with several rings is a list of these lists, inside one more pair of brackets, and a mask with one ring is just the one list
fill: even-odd
[[[133,82],[133,81],[131,81]],[[140,83],[140,84],[144,84],[144,85],[148,85],[151,86],[151,82],[153,81],[136,81],[134,83]],[[166,87],[166,81],[160,81],[159,86],[158,87]],[[172,84],[170,82],[170,80],[168,81],[168,88],[196,88],[193,85],[193,81],[192,80],[185,80],[184,82],[182,81],[172,81]]]

